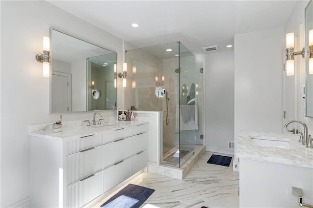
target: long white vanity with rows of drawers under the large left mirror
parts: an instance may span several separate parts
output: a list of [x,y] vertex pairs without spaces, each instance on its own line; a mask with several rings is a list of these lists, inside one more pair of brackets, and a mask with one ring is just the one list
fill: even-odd
[[147,166],[148,120],[30,133],[32,207],[78,208]]

